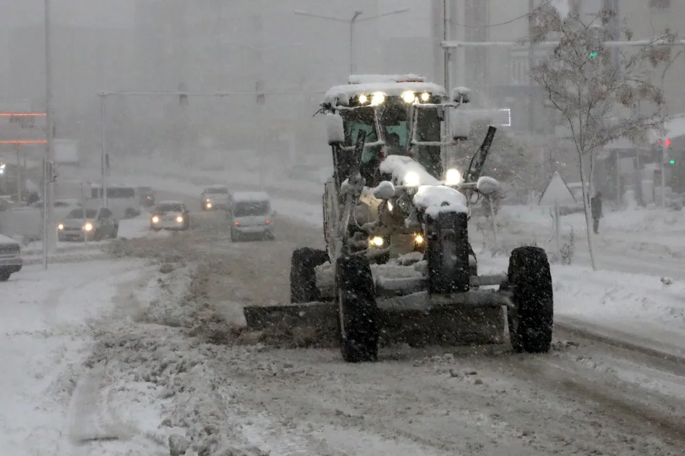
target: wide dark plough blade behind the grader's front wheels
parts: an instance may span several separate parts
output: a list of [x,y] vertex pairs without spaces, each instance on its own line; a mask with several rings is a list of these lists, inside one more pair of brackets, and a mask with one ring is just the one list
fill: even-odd
[[[488,293],[489,294],[489,293]],[[490,296],[492,296],[490,294]],[[488,296],[490,301],[492,298]],[[504,311],[496,302],[434,299],[406,305],[400,299],[378,304],[380,343],[410,345],[499,344],[504,342]],[[248,331],[276,346],[338,346],[338,307],[334,303],[249,306],[243,309]]]

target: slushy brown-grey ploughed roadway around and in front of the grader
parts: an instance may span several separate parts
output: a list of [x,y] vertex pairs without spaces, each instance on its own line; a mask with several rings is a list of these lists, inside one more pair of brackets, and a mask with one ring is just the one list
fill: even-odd
[[[684,444],[682,367],[582,335],[557,331],[542,356],[391,346],[377,364],[263,344],[240,329],[242,305],[286,302],[289,253],[321,242],[318,230],[279,219],[275,242],[231,244],[221,214],[198,219],[187,240],[118,247],[201,264],[153,278],[163,297],[144,326],[108,336],[96,357],[151,383],[140,401],[161,404],[157,440],[175,433],[211,455],[675,455]],[[171,288],[183,283],[187,294]]]

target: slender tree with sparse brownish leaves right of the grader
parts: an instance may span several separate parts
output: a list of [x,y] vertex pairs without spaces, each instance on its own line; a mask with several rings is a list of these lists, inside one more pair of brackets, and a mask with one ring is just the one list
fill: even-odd
[[[650,132],[663,131],[668,118],[663,75],[674,60],[676,36],[666,30],[638,45],[630,41],[630,30],[623,29],[621,38],[625,41],[613,48],[619,55],[616,62],[612,49],[606,45],[611,40],[607,25],[614,12],[601,11],[588,23],[575,12],[562,17],[556,8],[545,3],[531,15],[530,42],[557,43],[547,58],[531,68],[531,76],[543,89],[547,105],[560,112],[580,157],[588,248],[596,270],[586,188],[586,182],[593,181],[594,155],[613,140],[628,138],[639,144],[647,140]],[[663,71],[659,86],[652,81],[657,68]],[[642,110],[638,109],[640,102]],[[649,106],[647,114],[645,106]]]

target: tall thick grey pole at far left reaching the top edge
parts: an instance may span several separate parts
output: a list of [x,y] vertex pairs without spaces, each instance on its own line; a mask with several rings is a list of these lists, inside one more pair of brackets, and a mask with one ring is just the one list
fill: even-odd
[[[43,268],[47,269],[48,248],[52,249],[53,238],[56,233],[50,229],[53,222],[53,185],[52,166],[53,162],[53,108],[52,108],[52,47],[50,27],[50,0],[45,0],[45,116],[47,129],[47,147],[43,160]],[[55,235],[55,236],[53,236]]]

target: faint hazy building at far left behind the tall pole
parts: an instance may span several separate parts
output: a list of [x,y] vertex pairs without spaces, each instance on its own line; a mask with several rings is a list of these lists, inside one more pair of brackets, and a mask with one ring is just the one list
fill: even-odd
[[[53,95],[56,135],[97,144],[97,93],[132,84],[134,40],[122,29],[53,25]],[[5,84],[12,101],[29,101],[45,111],[45,27],[12,29],[8,38]]]

